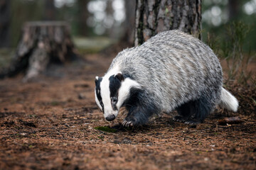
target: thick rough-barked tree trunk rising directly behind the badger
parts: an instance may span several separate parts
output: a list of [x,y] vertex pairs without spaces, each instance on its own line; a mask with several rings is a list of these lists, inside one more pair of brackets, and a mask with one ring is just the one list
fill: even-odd
[[201,0],[137,0],[135,27],[135,45],[164,30],[201,38]]

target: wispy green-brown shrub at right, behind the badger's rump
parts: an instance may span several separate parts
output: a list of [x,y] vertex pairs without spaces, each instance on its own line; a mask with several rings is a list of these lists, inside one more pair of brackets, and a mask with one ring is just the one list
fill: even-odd
[[255,81],[252,72],[247,71],[248,64],[255,58],[255,55],[245,50],[245,46],[250,46],[250,43],[246,41],[250,30],[249,25],[238,21],[225,26],[224,38],[215,37],[208,33],[208,45],[215,54],[227,62],[228,79],[225,83],[236,80],[239,84],[247,85],[249,81]]

